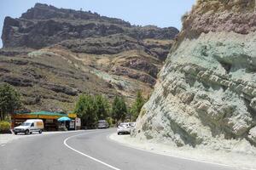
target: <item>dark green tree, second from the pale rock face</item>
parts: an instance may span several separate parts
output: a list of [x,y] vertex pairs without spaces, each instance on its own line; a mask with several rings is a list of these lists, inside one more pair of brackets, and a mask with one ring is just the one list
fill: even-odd
[[112,117],[115,122],[117,123],[120,120],[124,121],[126,113],[127,109],[125,105],[125,99],[123,97],[119,98],[118,96],[115,96],[112,104]]

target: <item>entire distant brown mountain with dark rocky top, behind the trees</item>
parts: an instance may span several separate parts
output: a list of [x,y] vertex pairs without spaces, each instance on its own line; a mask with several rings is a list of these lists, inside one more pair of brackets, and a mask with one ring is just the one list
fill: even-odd
[[19,88],[32,111],[70,111],[81,93],[131,103],[137,90],[151,93],[177,33],[36,3],[4,20],[0,82]]

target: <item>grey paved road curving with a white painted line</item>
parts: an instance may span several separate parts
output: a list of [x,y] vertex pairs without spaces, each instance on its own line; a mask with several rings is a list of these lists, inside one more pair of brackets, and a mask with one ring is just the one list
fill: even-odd
[[117,144],[115,129],[35,135],[0,146],[1,170],[231,170]]

